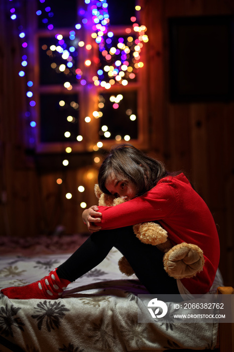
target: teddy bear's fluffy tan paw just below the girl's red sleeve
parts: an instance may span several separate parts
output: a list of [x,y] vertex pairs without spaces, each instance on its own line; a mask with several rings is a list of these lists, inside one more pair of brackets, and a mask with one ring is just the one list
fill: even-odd
[[167,240],[167,231],[155,222],[143,222],[141,224],[136,224],[133,226],[133,230],[135,235],[143,243],[156,246],[157,244],[166,242]]

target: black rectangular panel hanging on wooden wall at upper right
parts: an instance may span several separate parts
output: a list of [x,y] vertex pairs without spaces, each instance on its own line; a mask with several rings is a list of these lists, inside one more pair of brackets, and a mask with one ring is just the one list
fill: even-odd
[[171,101],[225,101],[232,97],[229,16],[169,20]]

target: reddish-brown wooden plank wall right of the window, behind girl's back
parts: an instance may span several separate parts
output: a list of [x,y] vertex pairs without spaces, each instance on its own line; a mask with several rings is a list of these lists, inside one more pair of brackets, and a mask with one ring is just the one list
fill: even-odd
[[170,170],[184,170],[208,204],[220,238],[220,269],[225,284],[233,285],[234,102],[170,103],[167,24],[170,17],[233,15],[234,5],[220,0],[152,0],[146,9],[151,150]]

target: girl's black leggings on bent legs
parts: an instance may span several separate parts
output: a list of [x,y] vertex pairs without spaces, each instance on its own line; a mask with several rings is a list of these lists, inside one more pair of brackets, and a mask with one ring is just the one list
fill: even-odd
[[140,282],[151,294],[179,294],[176,280],[163,268],[163,253],[142,243],[133,227],[100,230],[88,239],[57,269],[61,279],[75,281],[96,267],[115,247],[128,259]]

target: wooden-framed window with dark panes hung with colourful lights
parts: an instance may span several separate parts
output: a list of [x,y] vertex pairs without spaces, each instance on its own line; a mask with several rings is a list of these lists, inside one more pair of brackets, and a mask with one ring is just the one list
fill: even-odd
[[63,152],[68,146],[75,152],[93,151],[98,142],[105,147],[125,141],[145,146],[148,37],[139,4],[38,4],[33,39],[37,151]]

